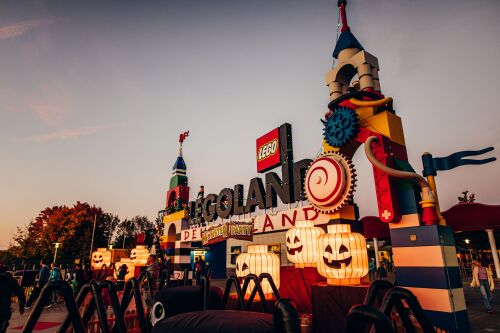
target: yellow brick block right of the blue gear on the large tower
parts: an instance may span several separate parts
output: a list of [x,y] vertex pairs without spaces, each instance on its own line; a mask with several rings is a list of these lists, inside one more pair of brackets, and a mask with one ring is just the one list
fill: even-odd
[[389,111],[380,112],[360,121],[361,127],[388,137],[391,141],[405,146],[401,118]]

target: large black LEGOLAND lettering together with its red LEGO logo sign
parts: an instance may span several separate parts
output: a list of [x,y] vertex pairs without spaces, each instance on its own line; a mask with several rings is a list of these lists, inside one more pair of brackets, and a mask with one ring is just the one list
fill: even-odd
[[[255,212],[256,208],[270,209],[278,206],[278,197],[284,204],[306,199],[303,191],[304,178],[310,159],[293,161],[292,126],[283,124],[257,139],[257,170],[270,170],[281,165],[281,178],[268,172],[264,178],[250,180],[246,203],[243,185],[223,188],[219,194],[208,194],[204,198],[189,202],[189,216],[196,220],[212,222],[217,218],[227,219],[233,215]],[[260,171],[259,171],[260,172]]]

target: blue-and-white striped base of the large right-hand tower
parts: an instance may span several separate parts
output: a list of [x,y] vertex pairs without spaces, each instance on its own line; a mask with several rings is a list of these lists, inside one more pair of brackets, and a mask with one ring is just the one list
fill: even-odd
[[434,326],[468,332],[469,319],[451,227],[421,226],[418,213],[390,224],[396,284],[418,298]]

